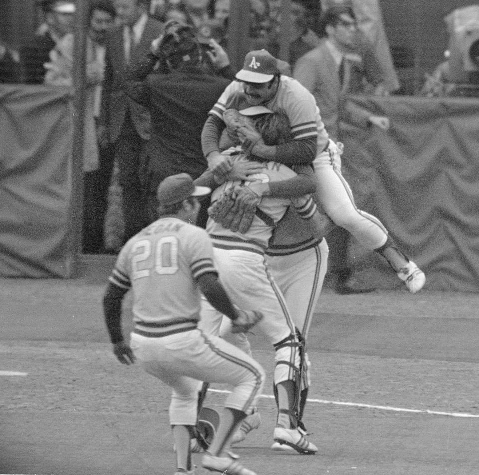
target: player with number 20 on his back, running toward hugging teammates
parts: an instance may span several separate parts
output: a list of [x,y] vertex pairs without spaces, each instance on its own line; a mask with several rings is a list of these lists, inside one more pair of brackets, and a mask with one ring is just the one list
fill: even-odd
[[[132,237],[121,249],[103,298],[113,352],[121,363],[138,360],[149,374],[172,388],[170,424],[177,454],[177,472],[194,474],[190,439],[197,423],[201,381],[229,383],[220,423],[202,465],[230,475],[255,475],[225,449],[255,398],[261,394],[264,371],[239,348],[198,329],[200,293],[233,321],[237,332],[248,331],[262,314],[233,305],[218,280],[213,246],[205,230],[194,226],[197,197],[210,188],[195,186],[186,173],[158,186],[160,218]],[[130,344],[123,339],[121,302],[133,291],[135,327]]]

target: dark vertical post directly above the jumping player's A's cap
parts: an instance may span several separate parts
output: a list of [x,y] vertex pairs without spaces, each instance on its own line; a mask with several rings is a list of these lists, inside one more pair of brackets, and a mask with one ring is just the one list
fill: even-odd
[[228,28],[228,55],[235,72],[243,66],[243,59],[249,51],[249,0],[233,0],[230,7]]

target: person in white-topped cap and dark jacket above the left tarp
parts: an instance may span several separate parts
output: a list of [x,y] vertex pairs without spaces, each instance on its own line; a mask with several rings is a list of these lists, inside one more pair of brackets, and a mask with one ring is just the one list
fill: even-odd
[[49,61],[49,53],[67,33],[73,31],[75,3],[67,0],[37,0],[43,20],[35,31],[31,44],[20,48],[20,56],[25,65],[25,82],[41,84],[45,77],[44,63]]

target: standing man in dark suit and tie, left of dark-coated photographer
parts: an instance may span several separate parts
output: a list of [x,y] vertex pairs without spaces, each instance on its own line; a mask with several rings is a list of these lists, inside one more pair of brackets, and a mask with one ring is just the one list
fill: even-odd
[[142,177],[150,139],[150,113],[122,89],[125,66],[147,54],[152,41],[162,33],[163,24],[148,16],[147,0],[115,0],[114,5],[119,24],[106,35],[99,135],[115,149],[126,242],[149,224]]

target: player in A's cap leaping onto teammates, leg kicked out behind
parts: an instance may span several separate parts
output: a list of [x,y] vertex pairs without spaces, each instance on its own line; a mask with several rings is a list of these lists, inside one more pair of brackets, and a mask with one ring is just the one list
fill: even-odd
[[326,214],[363,246],[382,255],[410,292],[421,290],[426,281],[423,271],[398,249],[378,218],[356,207],[349,184],[341,174],[341,150],[329,139],[314,96],[295,79],[280,74],[276,58],[264,49],[247,53],[236,77],[238,81],[227,86],[203,127],[202,147],[209,165],[215,166],[222,160],[219,143],[225,128],[223,114],[232,95],[244,94],[251,106],[284,110],[293,140],[266,145],[258,133],[244,130],[240,139],[248,151],[262,159],[289,165],[313,163]]

